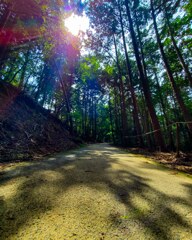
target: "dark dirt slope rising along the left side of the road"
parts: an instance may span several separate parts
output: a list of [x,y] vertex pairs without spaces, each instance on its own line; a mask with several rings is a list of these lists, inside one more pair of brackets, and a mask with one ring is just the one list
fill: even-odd
[[61,121],[0,82],[0,162],[32,159],[76,146]]

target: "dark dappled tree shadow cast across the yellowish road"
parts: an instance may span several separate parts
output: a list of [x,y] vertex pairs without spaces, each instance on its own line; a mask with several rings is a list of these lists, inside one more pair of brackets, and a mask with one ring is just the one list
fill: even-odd
[[[115,154],[125,156],[124,152],[108,145],[99,146],[96,149],[94,145],[89,146],[88,151],[84,148],[57,154],[2,175],[0,182],[4,188],[19,179],[22,181],[14,194],[0,198],[0,239],[16,235],[22,226],[51,211],[61,195],[80,185],[103,193],[107,187],[117,203],[125,206],[124,213],[114,212],[108,216],[115,229],[124,231],[125,239],[133,222],[151,239],[173,239],[173,229],[177,232],[177,228],[192,231],[189,219],[174,209],[174,204],[192,209],[190,184],[183,184],[188,197],[160,192],[150,185],[149,176],[139,176],[134,168],[125,168],[123,162],[114,157]],[[118,167],[112,168],[112,165]],[[91,202],[89,207],[94,211]]]

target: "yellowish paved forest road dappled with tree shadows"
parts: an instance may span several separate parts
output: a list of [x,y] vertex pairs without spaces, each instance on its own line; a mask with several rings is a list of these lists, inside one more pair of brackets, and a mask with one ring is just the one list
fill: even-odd
[[0,239],[192,239],[192,179],[93,144],[0,175]]

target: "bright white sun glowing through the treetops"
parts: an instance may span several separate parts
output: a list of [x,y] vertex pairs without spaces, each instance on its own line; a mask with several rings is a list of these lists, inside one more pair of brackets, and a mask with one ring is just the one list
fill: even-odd
[[89,19],[85,15],[78,16],[72,14],[70,17],[65,19],[64,24],[69,32],[77,36],[80,31],[86,32],[86,30],[89,28]]

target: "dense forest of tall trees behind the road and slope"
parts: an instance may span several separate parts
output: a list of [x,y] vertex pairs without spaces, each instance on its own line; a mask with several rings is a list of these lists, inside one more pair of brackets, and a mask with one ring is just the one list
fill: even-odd
[[190,150],[191,17],[191,0],[2,0],[0,79],[86,141]]

